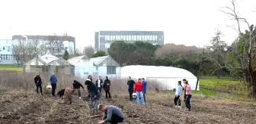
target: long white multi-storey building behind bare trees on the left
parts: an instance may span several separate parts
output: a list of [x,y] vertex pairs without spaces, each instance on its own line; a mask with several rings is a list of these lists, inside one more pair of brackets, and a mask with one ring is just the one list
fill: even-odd
[[[12,39],[0,39],[0,64],[17,64],[18,61],[15,59],[13,45],[17,45],[19,41],[25,42],[24,45],[28,45],[30,42],[37,41],[38,47],[45,47],[51,52],[55,52],[62,56],[65,49],[69,51],[69,54],[75,52],[75,37],[72,36],[12,36]],[[62,48],[59,50],[59,48]],[[57,51],[57,52],[56,52]],[[37,55],[40,56],[45,54],[46,51],[42,51]]]

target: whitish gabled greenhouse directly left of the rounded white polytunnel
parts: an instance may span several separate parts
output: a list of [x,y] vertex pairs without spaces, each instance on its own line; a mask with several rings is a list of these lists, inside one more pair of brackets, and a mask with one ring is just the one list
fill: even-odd
[[80,78],[85,79],[88,75],[120,78],[120,65],[110,56],[88,59],[88,57],[83,55],[72,57],[68,61],[75,66],[75,76]]

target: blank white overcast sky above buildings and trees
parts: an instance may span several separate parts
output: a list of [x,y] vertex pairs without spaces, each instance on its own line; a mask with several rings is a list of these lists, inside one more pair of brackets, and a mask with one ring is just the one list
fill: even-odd
[[[220,10],[229,0],[2,0],[0,39],[12,35],[75,36],[76,48],[94,46],[99,30],[164,31],[165,44],[210,45],[216,29],[234,41],[236,26]],[[237,0],[237,11],[256,24],[256,1]],[[246,29],[245,24],[242,29]]]

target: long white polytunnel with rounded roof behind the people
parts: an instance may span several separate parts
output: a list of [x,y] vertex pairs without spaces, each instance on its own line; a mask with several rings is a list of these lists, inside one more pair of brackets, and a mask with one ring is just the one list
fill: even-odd
[[[158,82],[163,90],[177,89],[178,81],[182,82],[183,79],[188,80],[192,90],[195,90],[197,85],[197,77],[193,73],[178,67],[126,66],[121,67],[120,75],[125,79],[128,76],[131,76],[132,79],[144,78],[148,85],[150,82]],[[181,85],[184,84],[181,83]],[[199,82],[197,90],[199,90]]]

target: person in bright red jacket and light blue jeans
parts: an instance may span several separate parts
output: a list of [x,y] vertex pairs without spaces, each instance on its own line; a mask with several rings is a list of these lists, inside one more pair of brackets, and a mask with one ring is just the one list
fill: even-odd
[[142,101],[142,104],[145,104],[145,101],[144,101],[144,98],[143,98],[143,84],[142,84],[141,79],[139,79],[138,82],[136,82],[136,84],[134,85],[134,92],[136,92],[137,104],[140,104],[139,99]]

